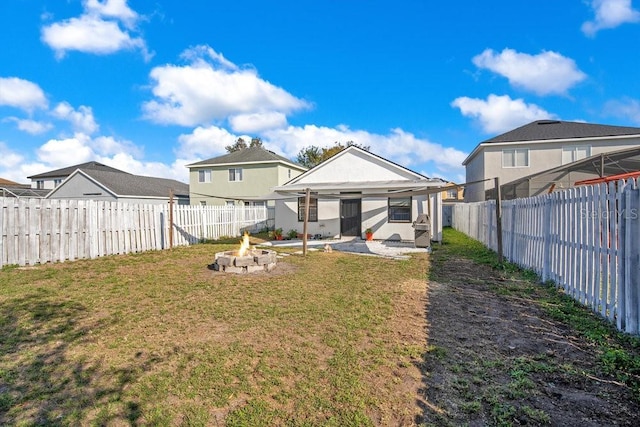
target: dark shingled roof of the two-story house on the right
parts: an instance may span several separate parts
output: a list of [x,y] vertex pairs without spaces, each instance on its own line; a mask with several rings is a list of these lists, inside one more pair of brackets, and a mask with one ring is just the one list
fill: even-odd
[[580,139],[634,138],[640,137],[640,128],[629,126],[599,125],[594,123],[565,122],[562,120],[537,120],[501,135],[487,139],[474,148],[462,162],[466,165],[484,147],[491,144],[566,142]]

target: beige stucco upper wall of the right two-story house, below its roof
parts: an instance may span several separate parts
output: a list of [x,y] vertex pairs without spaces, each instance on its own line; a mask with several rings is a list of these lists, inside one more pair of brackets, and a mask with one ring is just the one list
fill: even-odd
[[[640,145],[640,138],[630,139],[591,139],[567,140],[553,142],[527,142],[508,144],[487,144],[466,165],[467,181],[494,178],[500,179],[500,184],[523,178],[525,176],[543,172],[562,166],[562,149],[570,146],[590,146],[591,155],[622,150]],[[529,149],[529,166],[503,167],[502,150],[513,148]],[[465,188],[465,202],[484,200],[485,190],[494,187],[493,180],[484,184],[467,186]]]

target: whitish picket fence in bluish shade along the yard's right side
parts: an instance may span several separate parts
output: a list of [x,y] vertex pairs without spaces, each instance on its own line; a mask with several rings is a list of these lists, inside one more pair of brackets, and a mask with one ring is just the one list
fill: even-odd
[[[640,190],[635,180],[502,202],[504,257],[640,334]],[[453,227],[497,250],[495,201],[454,207]]]

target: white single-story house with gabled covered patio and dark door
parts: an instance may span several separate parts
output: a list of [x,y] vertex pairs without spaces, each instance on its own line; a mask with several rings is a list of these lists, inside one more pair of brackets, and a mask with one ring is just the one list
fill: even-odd
[[355,145],[273,188],[275,225],[303,232],[305,195],[310,192],[307,233],[322,238],[362,237],[414,241],[414,222],[429,215],[432,240],[442,239],[442,189],[431,179]]

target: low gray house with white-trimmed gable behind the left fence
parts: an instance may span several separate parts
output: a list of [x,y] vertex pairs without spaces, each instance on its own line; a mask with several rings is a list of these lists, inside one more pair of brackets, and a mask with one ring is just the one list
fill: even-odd
[[76,169],[47,198],[166,204],[172,193],[174,203],[189,204],[189,185],[180,181],[122,171]]

